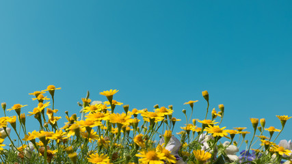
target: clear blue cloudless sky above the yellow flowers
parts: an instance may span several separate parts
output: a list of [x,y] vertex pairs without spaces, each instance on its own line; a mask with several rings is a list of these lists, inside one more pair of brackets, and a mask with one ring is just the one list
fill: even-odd
[[[250,118],[281,128],[276,115],[292,116],[291,8],[292,1],[1,1],[0,101],[28,105],[27,113],[37,105],[28,93],[53,84],[62,87],[55,109],[65,121],[87,90],[104,101],[99,92],[116,89],[130,109],[173,105],[176,118],[189,112],[184,102],[199,100],[194,118],[202,120],[208,90],[210,109],[225,105],[228,129],[252,131]],[[27,124],[33,131],[38,122],[31,116]],[[292,139],[291,126],[292,119],[278,140]]]

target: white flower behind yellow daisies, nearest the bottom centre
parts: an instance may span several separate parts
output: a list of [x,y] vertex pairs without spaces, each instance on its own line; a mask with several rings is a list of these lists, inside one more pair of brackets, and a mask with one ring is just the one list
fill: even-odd
[[[164,143],[164,137],[160,139],[160,144]],[[181,141],[179,141],[176,137],[172,136],[168,144],[165,146],[165,149],[170,151],[170,154],[174,155],[178,161],[177,164],[187,164],[183,161],[181,156],[178,155],[178,150],[181,147]]]

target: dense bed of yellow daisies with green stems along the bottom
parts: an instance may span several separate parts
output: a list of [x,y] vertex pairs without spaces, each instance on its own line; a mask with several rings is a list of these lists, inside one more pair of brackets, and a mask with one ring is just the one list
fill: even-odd
[[[172,105],[132,109],[114,99],[118,90],[107,90],[100,92],[104,102],[91,100],[88,92],[79,103],[79,113],[66,111],[66,118],[61,118],[54,99],[59,90],[49,85],[30,93],[36,102],[33,111],[27,111],[27,105],[1,103],[1,163],[292,163],[291,141],[275,143],[292,118],[288,115],[275,116],[280,129],[266,127],[265,118],[246,118],[253,126],[246,131],[236,124],[220,126],[224,105],[210,109],[207,91],[202,92],[206,109],[198,109],[206,115],[195,118],[198,100],[186,100],[190,115]],[[183,112],[185,118],[176,118],[174,111]],[[8,112],[14,115],[6,116]],[[35,120],[34,131],[27,131],[27,119]],[[184,122],[181,131],[174,131],[176,122]],[[16,140],[10,136],[12,131]],[[246,140],[249,133],[252,139]],[[7,140],[10,144],[3,144]]]

